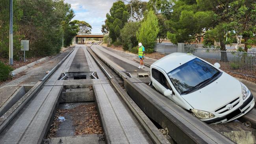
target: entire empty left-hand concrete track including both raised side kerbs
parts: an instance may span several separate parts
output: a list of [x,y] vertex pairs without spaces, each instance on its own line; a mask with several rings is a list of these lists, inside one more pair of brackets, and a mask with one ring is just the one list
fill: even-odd
[[[109,69],[104,69],[87,51],[87,46],[76,45],[1,115],[0,143],[170,143],[171,138],[162,135],[122,89],[123,80]],[[128,77],[125,72],[122,74]],[[74,136],[77,112],[71,109],[89,104],[96,105],[103,133],[79,135],[78,132]],[[64,115],[66,120],[59,123],[56,135],[48,138],[57,109],[65,109],[68,114]]]

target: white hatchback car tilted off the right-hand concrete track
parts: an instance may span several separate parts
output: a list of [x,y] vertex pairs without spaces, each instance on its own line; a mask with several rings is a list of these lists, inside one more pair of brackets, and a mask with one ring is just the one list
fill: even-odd
[[194,55],[173,53],[150,66],[152,85],[202,121],[230,122],[254,107],[254,98],[237,79]]

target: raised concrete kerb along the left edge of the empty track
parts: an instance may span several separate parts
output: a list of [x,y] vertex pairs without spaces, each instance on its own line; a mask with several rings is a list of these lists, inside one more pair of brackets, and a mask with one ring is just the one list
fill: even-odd
[[[74,50],[74,49],[73,49]],[[32,89],[30,89],[22,98],[20,98],[6,113],[0,117],[0,133],[5,129],[5,127],[11,122],[11,120],[20,112],[20,110],[28,103],[28,101],[34,96],[34,94],[41,88],[46,79],[48,79],[53,72],[67,59],[67,57],[73,52],[62,59],[57,66],[55,66],[41,81],[38,81]]]

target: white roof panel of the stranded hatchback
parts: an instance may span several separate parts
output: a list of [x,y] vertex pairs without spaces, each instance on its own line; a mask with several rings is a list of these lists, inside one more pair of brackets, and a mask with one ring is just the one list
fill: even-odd
[[162,68],[166,73],[177,68],[178,66],[195,59],[196,57],[190,54],[178,53],[169,54],[158,61],[154,62],[152,65]]

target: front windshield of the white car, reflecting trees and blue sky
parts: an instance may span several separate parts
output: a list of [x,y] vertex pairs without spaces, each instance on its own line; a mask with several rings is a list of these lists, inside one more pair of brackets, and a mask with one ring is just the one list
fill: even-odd
[[199,89],[202,84],[215,78],[219,73],[219,70],[213,66],[195,58],[175,68],[168,73],[168,76],[180,94],[187,94]]

